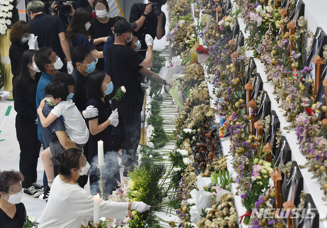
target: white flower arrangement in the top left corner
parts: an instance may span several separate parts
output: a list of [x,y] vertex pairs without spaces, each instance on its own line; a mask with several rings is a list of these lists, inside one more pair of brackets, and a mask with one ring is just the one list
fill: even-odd
[[18,21],[16,0],[4,0],[0,3],[0,34],[5,35],[8,28]]

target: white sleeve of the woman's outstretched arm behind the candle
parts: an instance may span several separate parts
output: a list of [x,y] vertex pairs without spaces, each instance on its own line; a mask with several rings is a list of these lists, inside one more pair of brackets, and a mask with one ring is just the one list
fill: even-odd
[[[78,187],[77,191],[69,196],[72,199],[72,211],[78,212],[79,216],[93,216],[94,196]],[[100,199],[100,217],[124,219],[128,210],[129,202],[112,202]]]

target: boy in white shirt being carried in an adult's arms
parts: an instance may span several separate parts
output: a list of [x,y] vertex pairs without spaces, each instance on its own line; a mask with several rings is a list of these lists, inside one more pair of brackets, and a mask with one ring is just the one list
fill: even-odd
[[[89,131],[81,112],[71,99],[72,93],[69,93],[69,90],[72,90],[73,92],[74,85],[67,85],[60,81],[52,82],[47,85],[44,88],[46,97],[41,101],[37,113],[43,127],[48,127],[58,117],[62,116],[68,138],[71,139],[79,148],[83,148],[88,141]],[[44,103],[54,106],[46,118],[42,112]],[[48,177],[48,185],[50,188],[55,178],[51,158],[63,151],[64,148],[60,145],[59,141],[53,141],[50,143],[48,148],[41,152],[44,171],[46,177]]]

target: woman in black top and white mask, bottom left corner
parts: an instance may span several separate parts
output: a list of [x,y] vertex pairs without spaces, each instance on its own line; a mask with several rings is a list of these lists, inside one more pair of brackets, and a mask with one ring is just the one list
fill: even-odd
[[21,228],[26,221],[26,209],[22,202],[20,182],[24,176],[18,171],[0,172],[0,226]]

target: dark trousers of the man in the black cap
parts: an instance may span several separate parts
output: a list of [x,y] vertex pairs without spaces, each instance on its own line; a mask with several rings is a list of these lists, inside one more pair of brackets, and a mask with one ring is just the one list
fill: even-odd
[[[141,107],[141,109],[140,109]],[[135,155],[139,140],[141,139],[141,110],[142,105],[136,103],[133,105],[119,106],[119,123],[122,128],[122,164],[133,166],[136,162]]]

